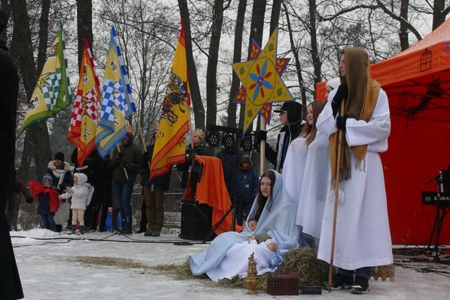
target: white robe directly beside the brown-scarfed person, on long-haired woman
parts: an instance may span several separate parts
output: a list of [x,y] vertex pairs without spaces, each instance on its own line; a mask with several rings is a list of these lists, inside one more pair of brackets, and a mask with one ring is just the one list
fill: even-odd
[[321,237],[323,211],[330,191],[330,176],[329,139],[327,135],[317,132],[307,150],[296,220],[296,224],[303,226],[303,233],[314,238]]

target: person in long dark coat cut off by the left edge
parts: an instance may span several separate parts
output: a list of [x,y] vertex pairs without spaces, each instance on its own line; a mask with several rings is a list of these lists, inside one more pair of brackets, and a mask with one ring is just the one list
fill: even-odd
[[[0,33],[6,28],[8,16],[0,10]],[[0,299],[22,299],[24,291],[12,249],[6,203],[15,181],[15,130],[19,76],[3,39],[0,39],[0,136],[3,143],[3,166],[0,168]]]

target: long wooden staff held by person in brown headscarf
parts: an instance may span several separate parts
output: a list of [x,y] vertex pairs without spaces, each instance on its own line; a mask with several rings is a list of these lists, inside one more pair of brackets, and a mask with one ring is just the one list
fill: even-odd
[[[341,103],[341,114],[344,114],[345,110],[345,99],[342,100]],[[338,137],[338,157],[336,164],[336,184],[334,185],[334,213],[333,213],[333,229],[332,229],[332,238],[331,238],[331,253],[330,253],[330,272],[328,274],[328,292],[331,292],[331,284],[333,281],[333,260],[334,260],[334,239],[336,238],[336,218],[337,218],[337,204],[339,202],[339,182],[340,178],[340,170],[341,170],[341,157],[342,157],[342,139],[343,139],[343,130],[339,130]]]

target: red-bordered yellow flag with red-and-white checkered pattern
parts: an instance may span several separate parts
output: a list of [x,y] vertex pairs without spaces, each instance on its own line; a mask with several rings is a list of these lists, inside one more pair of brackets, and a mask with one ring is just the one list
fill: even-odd
[[100,82],[93,64],[91,49],[89,49],[87,39],[84,39],[80,80],[67,135],[67,140],[78,147],[78,166],[83,166],[84,160],[96,148],[100,97]]

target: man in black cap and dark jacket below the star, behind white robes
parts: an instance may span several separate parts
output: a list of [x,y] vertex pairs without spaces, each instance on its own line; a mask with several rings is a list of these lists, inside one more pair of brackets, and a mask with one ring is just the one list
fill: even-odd
[[[275,150],[266,142],[266,158],[273,164],[275,170],[282,173],[287,148],[291,141],[298,137],[303,128],[302,105],[296,101],[289,101],[283,103],[280,109],[275,109],[273,112],[280,114],[280,122],[284,126],[280,130],[280,134],[278,134]],[[258,147],[261,144],[261,140],[265,141],[266,139],[267,132],[260,130],[256,135]]]

